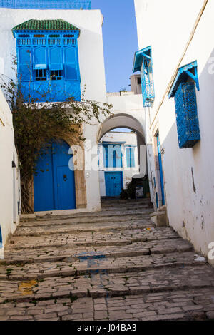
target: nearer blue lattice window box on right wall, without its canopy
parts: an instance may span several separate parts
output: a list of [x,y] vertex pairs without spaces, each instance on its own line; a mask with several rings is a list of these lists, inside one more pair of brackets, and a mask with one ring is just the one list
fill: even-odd
[[192,148],[200,140],[195,83],[180,83],[175,93],[179,148]]

